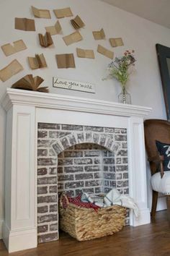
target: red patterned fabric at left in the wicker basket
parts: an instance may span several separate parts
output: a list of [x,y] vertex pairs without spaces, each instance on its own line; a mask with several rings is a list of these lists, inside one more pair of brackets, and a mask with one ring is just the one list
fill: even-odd
[[81,195],[77,195],[76,197],[71,197],[70,195],[67,195],[67,194],[61,195],[61,201],[63,204],[63,208],[65,208],[65,209],[68,207],[69,202],[73,203],[74,205],[81,206],[84,208],[93,208],[95,211],[97,211],[100,208],[99,206],[94,205],[91,202],[82,202]]

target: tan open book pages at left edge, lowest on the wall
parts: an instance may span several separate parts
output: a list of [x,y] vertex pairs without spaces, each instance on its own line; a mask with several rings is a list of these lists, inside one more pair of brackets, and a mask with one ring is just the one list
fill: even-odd
[[14,74],[19,73],[23,70],[22,65],[17,61],[17,59],[14,59],[8,66],[4,67],[4,69],[0,70],[0,79],[5,82],[6,80],[9,80]]

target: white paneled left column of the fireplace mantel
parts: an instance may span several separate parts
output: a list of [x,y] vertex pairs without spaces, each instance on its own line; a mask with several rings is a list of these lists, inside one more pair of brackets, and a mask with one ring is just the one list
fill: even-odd
[[9,252],[37,247],[35,107],[12,106],[6,114],[5,220]]

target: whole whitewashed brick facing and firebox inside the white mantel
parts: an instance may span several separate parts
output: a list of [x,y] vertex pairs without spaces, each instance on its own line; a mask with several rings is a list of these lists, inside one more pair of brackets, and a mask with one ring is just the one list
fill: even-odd
[[38,123],[37,140],[39,243],[58,239],[58,193],[128,194],[127,129]]

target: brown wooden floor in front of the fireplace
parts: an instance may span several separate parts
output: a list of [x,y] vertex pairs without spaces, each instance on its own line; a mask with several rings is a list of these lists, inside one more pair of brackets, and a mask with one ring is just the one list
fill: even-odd
[[[170,256],[170,225],[166,210],[156,213],[151,224],[131,227],[112,236],[78,242],[63,233],[60,240],[39,244],[35,249],[10,256]],[[0,256],[9,255],[0,240]]]

